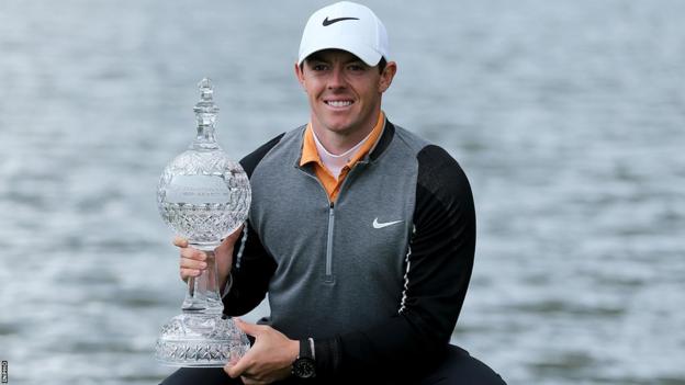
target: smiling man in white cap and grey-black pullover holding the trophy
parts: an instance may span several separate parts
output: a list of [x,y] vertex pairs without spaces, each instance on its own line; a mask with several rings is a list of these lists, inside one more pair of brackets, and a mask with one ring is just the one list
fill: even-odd
[[[381,110],[397,71],[385,27],[363,5],[323,8],[294,70],[310,123],[240,161],[252,206],[216,250],[225,313],[268,293],[271,314],[236,319],[255,342],[225,372],[181,369],[164,384],[503,384],[449,344],[473,265],[473,199],[454,159]],[[175,244],[181,278],[198,276],[206,256]]]

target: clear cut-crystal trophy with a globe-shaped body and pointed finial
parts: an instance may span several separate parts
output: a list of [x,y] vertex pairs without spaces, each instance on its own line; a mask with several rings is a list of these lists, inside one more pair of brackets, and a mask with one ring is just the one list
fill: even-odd
[[249,349],[247,336],[223,316],[214,256],[223,238],[247,218],[251,192],[247,174],[216,141],[218,107],[209,79],[202,79],[193,111],[198,136],[164,170],[157,204],[164,220],[190,246],[207,254],[207,268],[188,280],[182,314],[161,328],[155,356],[172,366],[224,366]]

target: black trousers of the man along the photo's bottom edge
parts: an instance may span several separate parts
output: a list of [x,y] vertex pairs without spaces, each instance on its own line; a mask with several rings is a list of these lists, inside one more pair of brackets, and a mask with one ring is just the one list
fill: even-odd
[[[366,384],[360,373],[355,384]],[[378,382],[373,382],[378,384]],[[240,378],[231,378],[222,367],[181,367],[168,376],[160,385],[231,385],[243,384]],[[281,385],[299,384],[295,378],[279,382]],[[304,384],[312,384],[306,382]],[[321,384],[321,383],[316,383]],[[442,362],[435,371],[418,382],[393,381],[394,385],[506,385],[502,377],[483,362],[471,356],[468,351],[450,346]]]

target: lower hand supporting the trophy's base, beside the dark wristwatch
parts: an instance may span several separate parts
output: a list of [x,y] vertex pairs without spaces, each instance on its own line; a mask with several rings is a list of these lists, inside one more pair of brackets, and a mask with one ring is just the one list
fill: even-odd
[[300,353],[300,341],[267,325],[234,320],[240,330],[255,337],[255,343],[238,362],[224,366],[224,371],[232,378],[240,376],[246,385],[270,384],[288,377]]

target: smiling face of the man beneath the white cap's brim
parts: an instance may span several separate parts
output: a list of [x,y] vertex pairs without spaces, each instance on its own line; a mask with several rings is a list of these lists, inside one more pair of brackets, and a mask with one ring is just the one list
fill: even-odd
[[357,56],[339,49],[311,55],[302,69],[295,65],[317,135],[361,140],[377,123],[381,95],[390,87],[395,71],[393,61],[380,72],[378,67],[369,67]]

